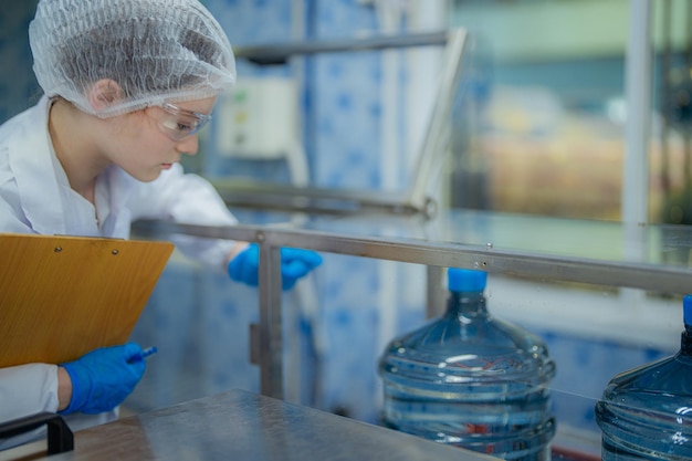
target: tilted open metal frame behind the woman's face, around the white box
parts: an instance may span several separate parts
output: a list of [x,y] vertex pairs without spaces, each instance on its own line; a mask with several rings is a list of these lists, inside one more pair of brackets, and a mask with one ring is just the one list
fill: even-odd
[[361,52],[395,48],[444,45],[442,69],[436,101],[423,143],[417,154],[415,177],[402,193],[380,190],[335,190],[275,185],[260,181],[224,181],[212,184],[230,206],[254,209],[310,211],[321,213],[349,213],[377,209],[398,214],[432,217],[437,203],[428,197],[432,169],[441,165],[449,146],[449,124],[454,93],[462,72],[462,57],[466,31],[452,29],[442,32],[408,35],[371,36],[332,42],[276,43],[259,46],[239,46],[235,56],[261,65],[285,64],[295,55]]

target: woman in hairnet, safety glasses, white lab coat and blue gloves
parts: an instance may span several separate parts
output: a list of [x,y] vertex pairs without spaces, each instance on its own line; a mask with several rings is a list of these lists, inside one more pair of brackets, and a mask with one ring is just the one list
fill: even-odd
[[[197,153],[217,95],[235,82],[209,11],[197,0],[40,0],[29,34],[45,94],[0,127],[0,232],[128,238],[140,218],[237,223],[211,185],[178,164]],[[256,245],[176,244],[256,284]],[[284,287],[319,263],[282,250]],[[73,428],[111,420],[144,374],[139,354],[130,343],[0,369],[0,421],[40,411],[69,415]]]

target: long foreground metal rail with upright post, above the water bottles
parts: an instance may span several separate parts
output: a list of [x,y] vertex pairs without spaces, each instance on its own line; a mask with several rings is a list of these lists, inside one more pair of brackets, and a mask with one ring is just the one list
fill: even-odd
[[[251,329],[251,356],[253,363],[260,366],[261,392],[276,398],[284,397],[280,272],[280,249],[283,247],[426,264],[429,266],[428,294],[432,296],[436,291],[431,286],[434,286],[434,281],[440,280],[441,268],[481,269],[490,273],[668,293],[685,293],[692,276],[691,268],[543,255],[484,245],[364,238],[261,226],[207,227],[139,221],[136,229],[144,232],[143,235],[181,233],[259,243],[260,323]],[[433,303],[429,300],[428,304]]]

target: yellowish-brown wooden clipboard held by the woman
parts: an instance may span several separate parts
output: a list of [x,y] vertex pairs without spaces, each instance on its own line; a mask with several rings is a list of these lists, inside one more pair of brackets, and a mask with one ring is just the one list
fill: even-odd
[[0,367],[124,344],[174,244],[0,234]]

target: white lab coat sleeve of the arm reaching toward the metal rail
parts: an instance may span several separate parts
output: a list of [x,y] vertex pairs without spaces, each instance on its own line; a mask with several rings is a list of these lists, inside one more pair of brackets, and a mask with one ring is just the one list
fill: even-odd
[[[133,219],[170,219],[202,226],[238,223],[213,186],[200,176],[184,174],[180,165],[175,165],[157,180],[143,186],[133,196],[136,200],[130,208]],[[223,270],[228,254],[235,245],[231,240],[189,235],[175,235],[172,240],[187,256]]]

